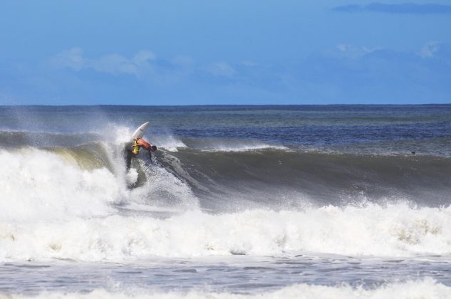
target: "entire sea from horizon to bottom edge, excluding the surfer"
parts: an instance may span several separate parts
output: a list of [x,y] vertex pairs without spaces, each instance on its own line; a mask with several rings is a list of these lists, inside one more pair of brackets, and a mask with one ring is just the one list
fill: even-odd
[[451,298],[451,105],[0,106],[0,165],[0,298]]

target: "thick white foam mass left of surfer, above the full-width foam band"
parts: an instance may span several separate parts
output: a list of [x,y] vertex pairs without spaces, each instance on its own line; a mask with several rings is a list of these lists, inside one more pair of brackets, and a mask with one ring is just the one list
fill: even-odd
[[0,150],[1,221],[106,216],[123,194],[105,167],[81,169],[76,159],[45,150]]

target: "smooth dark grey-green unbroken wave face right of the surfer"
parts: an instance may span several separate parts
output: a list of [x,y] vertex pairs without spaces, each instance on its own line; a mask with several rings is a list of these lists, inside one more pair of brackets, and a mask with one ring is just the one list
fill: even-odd
[[[301,150],[163,152],[160,162],[188,182],[205,205],[217,194],[260,206],[353,204],[407,199],[424,206],[447,204],[451,159]],[[287,198],[287,196],[289,198]],[[237,204],[236,202],[234,203]],[[224,206],[222,206],[224,208]]]

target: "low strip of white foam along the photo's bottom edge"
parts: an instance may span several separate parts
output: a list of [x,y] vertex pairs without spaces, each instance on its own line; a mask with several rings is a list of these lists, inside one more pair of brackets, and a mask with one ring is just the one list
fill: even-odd
[[[360,299],[360,298],[425,298],[425,299],[446,299],[451,298],[451,287],[435,282],[430,278],[423,280],[410,280],[405,283],[388,283],[374,289],[365,289],[361,287],[353,288],[350,285],[290,285],[281,290],[269,291],[259,294],[237,294],[237,293],[216,293],[208,290],[190,290],[190,291],[170,291],[167,293],[156,292],[152,290],[142,290],[139,288],[105,290],[96,289],[90,293],[50,293],[43,292],[39,295],[9,295],[7,298],[209,298],[209,299],[244,299],[244,298],[330,298],[330,299]],[[1,297],[0,297],[1,298]]]

